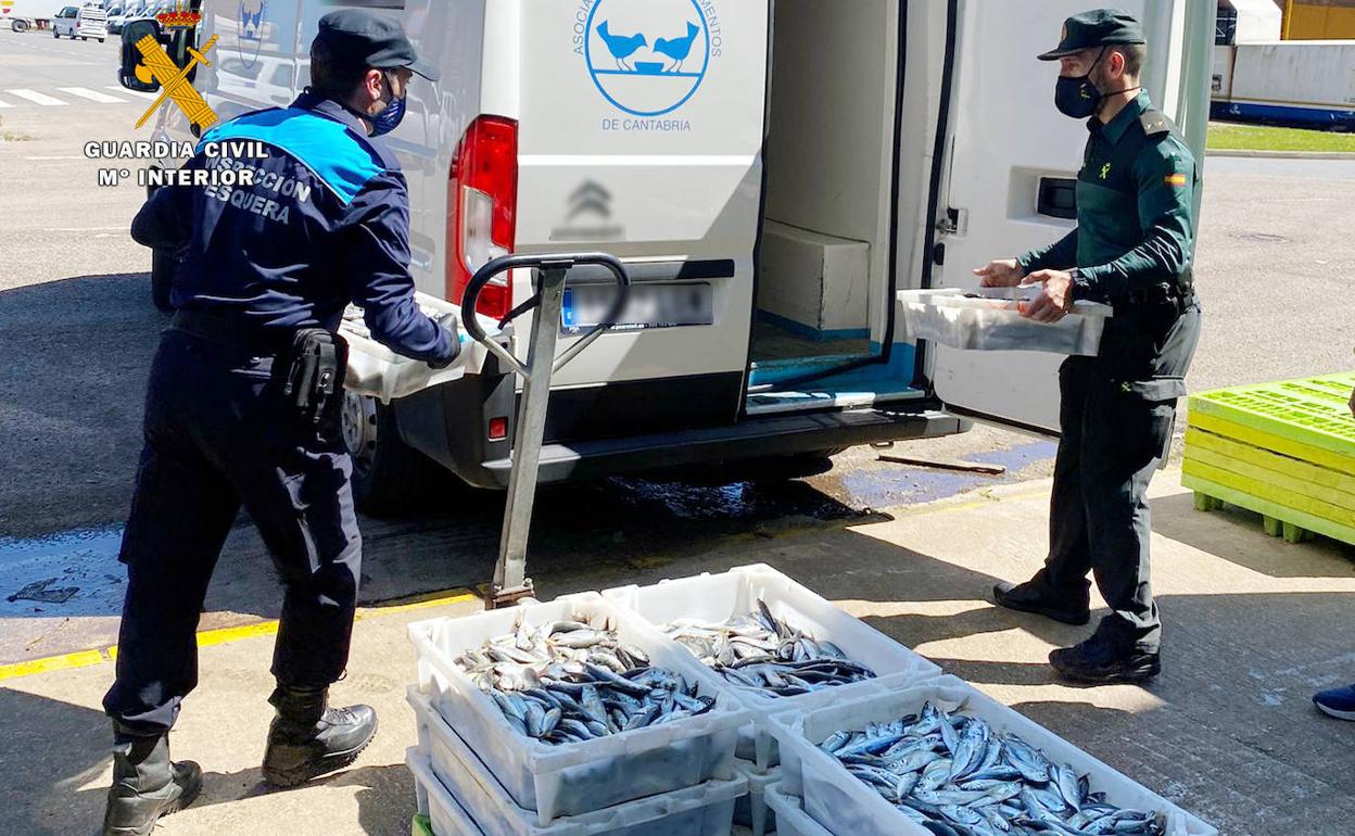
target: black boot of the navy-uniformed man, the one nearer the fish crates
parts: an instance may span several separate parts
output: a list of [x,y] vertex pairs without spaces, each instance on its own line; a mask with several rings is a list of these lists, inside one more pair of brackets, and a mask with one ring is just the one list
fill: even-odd
[[329,688],[278,686],[268,702],[278,715],[268,726],[263,779],[275,787],[294,787],[317,775],[358,760],[377,736],[377,713],[370,706],[331,709]]

